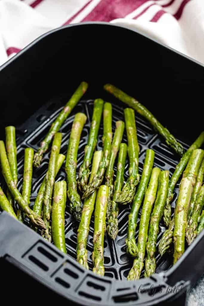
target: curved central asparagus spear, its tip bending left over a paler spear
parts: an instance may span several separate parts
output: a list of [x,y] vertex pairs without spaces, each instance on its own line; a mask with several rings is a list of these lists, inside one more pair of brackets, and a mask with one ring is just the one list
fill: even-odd
[[86,191],[83,193],[82,199],[87,198],[98,189],[103,181],[103,176],[109,164],[111,142],[112,142],[112,106],[110,103],[104,103],[103,108],[103,156],[100,161],[98,171],[93,179],[87,185]]

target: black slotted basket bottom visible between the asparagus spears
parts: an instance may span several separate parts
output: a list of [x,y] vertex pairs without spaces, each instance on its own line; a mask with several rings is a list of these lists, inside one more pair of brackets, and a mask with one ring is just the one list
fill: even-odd
[[[23,175],[23,162],[24,162],[24,148],[32,147],[35,151],[40,145],[41,140],[45,137],[50,125],[57,117],[58,113],[62,109],[63,105],[66,103],[67,95],[61,95],[56,97],[50,102],[46,103],[42,108],[40,108],[32,117],[30,117],[23,125],[17,127],[17,159],[18,159],[18,188],[21,189],[22,186],[22,175]],[[115,130],[115,122],[117,120],[124,120],[123,115],[123,105],[120,106],[113,104],[113,132]],[[60,132],[62,132],[62,144],[61,153],[66,154],[67,144],[69,140],[69,135],[72,127],[72,122],[74,115],[77,112],[83,112],[87,115],[87,122],[84,126],[79,150],[78,150],[78,164],[77,171],[83,161],[84,147],[87,144],[88,132],[91,123],[93,110],[93,100],[81,101],[75,109],[72,111],[71,116],[67,118],[65,123],[62,125]],[[135,116],[138,142],[140,146],[139,154],[139,172],[141,174],[143,168],[143,162],[145,159],[145,151],[147,148],[151,148],[155,151],[154,166],[161,168],[162,170],[169,170],[170,175],[172,175],[176,164],[179,161],[179,157],[176,156],[173,151],[165,144],[164,140],[161,139],[158,134],[151,128],[151,126],[139,117],[137,114]],[[127,143],[126,134],[124,133],[123,142]],[[181,142],[182,143],[182,142]],[[182,143],[184,148],[187,145]],[[102,149],[102,122],[99,129],[97,150]],[[48,162],[49,162],[50,150],[44,156],[43,162],[38,169],[33,172],[33,182],[32,182],[32,195],[31,195],[31,207],[34,204],[35,197],[39,190],[39,187],[43,181],[43,177],[46,174]],[[116,164],[114,170],[116,173]],[[128,178],[128,159],[125,166],[125,180]],[[57,175],[56,181],[65,180],[65,170],[64,165]],[[175,194],[172,201],[172,208],[175,207],[175,198],[178,193],[178,184],[175,188]],[[130,206],[120,206],[120,212],[118,215],[118,226],[119,231],[115,241],[112,241],[108,235],[105,237],[104,241],[104,266],[105,275],[116,279],[125,279],[130,270],[133,259],[127,256],[125,250],[125,238],[127,233],[128,224],[128,214],[130,212]],[[139,212],[137,224],[139,224],[141,212]],[[73,220],[72,215],[69,211],[69,200],[67,201],[66,211],[65,211],[65,240],[67,254],[76,259],[76,241],[77,241],[77,227],[78,224]],[[162,222],[160,223],[160,231],[158,235],[158,241],[161,239],[162,232],[165,230]],[[93,251],[93,232],[94,232],[94,216],[91,218],[90,231],[87,240],[87,250],[88,250],[88,264],[92,269],[93,264],[91,260],[91,253]],[[135,238],[138,236],[138,226],[135,234]],[[168,254],[164,257],[160,257],[158,254],[157,259],[157,269],[156,272],[167,270],[172,264],[171,256]],[[143,275],[143,273],[142,273]]]

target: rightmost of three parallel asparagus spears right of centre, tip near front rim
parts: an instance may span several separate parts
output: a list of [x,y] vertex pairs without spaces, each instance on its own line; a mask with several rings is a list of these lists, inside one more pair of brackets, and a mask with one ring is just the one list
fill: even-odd
[[161,171],[159,174],[159,186],[157,192],[157,198],[154,204],[154,208],[151,214],[150,226],[149,226],[149,235],[147,241],[147,259],[145,260],[145,277],[149,277],[151,274],[154,274],[156,269],[156,243],[157,236],[159,232],[159,222],[161,220],[165,201],[167,197],[169,185],[169,171]]

